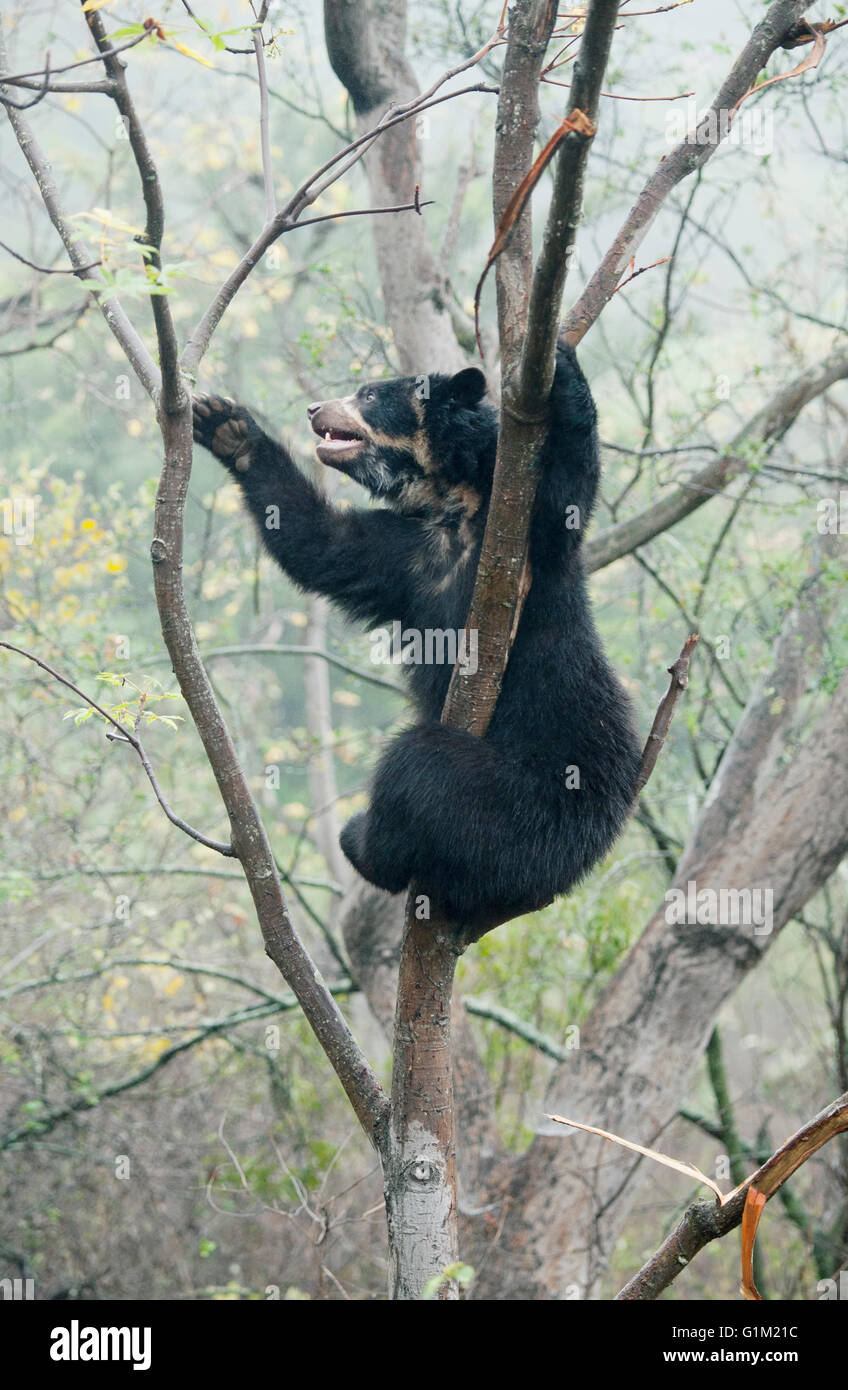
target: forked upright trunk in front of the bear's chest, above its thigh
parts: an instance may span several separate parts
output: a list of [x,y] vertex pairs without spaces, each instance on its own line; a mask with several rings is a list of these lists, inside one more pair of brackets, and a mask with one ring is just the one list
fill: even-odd
[[[535,271],[530,275],[531,239],[527,214],[498,260],[498,321],[503,359],[503,388],[492,500],[477,567],[467,624],[478,631],[480,670],[468,676],[457,664],[450,678],[442,720],[482,735],[492,717],[521,606],[530,589],[528,535],[538,473],[535,461],[548,430],[555,348],[567,260],[582,203],[582,181],[595,129],[598,99],[619,13],[617,0],[592,0],[574,71],[574,122],[556,156],[553,195]],[[538,72],[549,38],[551,18],[544,6],[524,18],[527,32],[514,36],[514,89],[507,86],[512,49],[507,47],[499,136],[495,156],[496,215],[499,221],[524,179],[521,160],[532,147]],[[544,42],[542,42],[544,39]],[[521,47],[519,49],[519,44]],[[512,106],[524,111],[516,124]],[[520,146],[517,153],[513,146]]]

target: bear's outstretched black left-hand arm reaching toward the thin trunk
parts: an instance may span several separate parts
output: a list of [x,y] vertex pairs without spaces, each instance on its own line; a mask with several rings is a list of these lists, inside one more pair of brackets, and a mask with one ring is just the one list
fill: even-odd
[[420,528],[386,510],[331,506],[243,406],[195,398],[195,439],[240,485],[271,557],[302,589],[364,623],[403,621]]

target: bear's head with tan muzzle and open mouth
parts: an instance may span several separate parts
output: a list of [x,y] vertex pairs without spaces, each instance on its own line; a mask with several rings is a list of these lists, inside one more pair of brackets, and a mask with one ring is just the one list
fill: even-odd
[[353,396],[309,406],[316,453],[398,512],[438,513],[463,489],[480,505],[498,445],[485,391],[477,367],[367,382]]

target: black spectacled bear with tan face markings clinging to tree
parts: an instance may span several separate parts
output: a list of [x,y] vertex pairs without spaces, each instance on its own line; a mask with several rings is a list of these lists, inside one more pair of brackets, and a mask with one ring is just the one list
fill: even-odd
[[[239,482],[264,545],[303,589],[360,623],[463,630],[487,521],[498,417],[481,371],[374,381],[307,416],[321,463],[382,506],[338,510],[229,399],[195,399],[195,438]],[[581,542],[598,491],[595,403],[557,349],[530,537],[532,584],[484,738],[439,723],[450,666],[407,666],[417,721],[377,766],[341,845],[388,892],[410,883],[463,924],[567,892],[635,796],[630,702],[601,648]],[[274,518],[274,520],[272,520]]]

